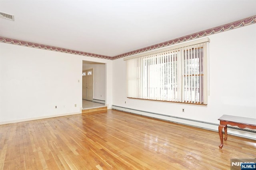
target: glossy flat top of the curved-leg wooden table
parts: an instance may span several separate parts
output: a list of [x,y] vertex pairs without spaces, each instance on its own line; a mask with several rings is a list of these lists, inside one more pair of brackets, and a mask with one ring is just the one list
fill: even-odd
[[222,117],[220,117],[218,120],[219,121],[242,123],[242,124],[247,124],[247,125],[256,125],[256,119],[248,118],[248,117],[222,115]]

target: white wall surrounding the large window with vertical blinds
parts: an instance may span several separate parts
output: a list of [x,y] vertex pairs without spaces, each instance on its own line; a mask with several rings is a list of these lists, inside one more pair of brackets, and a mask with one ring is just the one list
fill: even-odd
[[[224,114],[256,118],[256,24],[208,37],[211,42],[207,106],[126,98],[126,61],[123,58],[113,61],[113,105],[216,124]],[[255,133],[231,131],[255,138]]]

